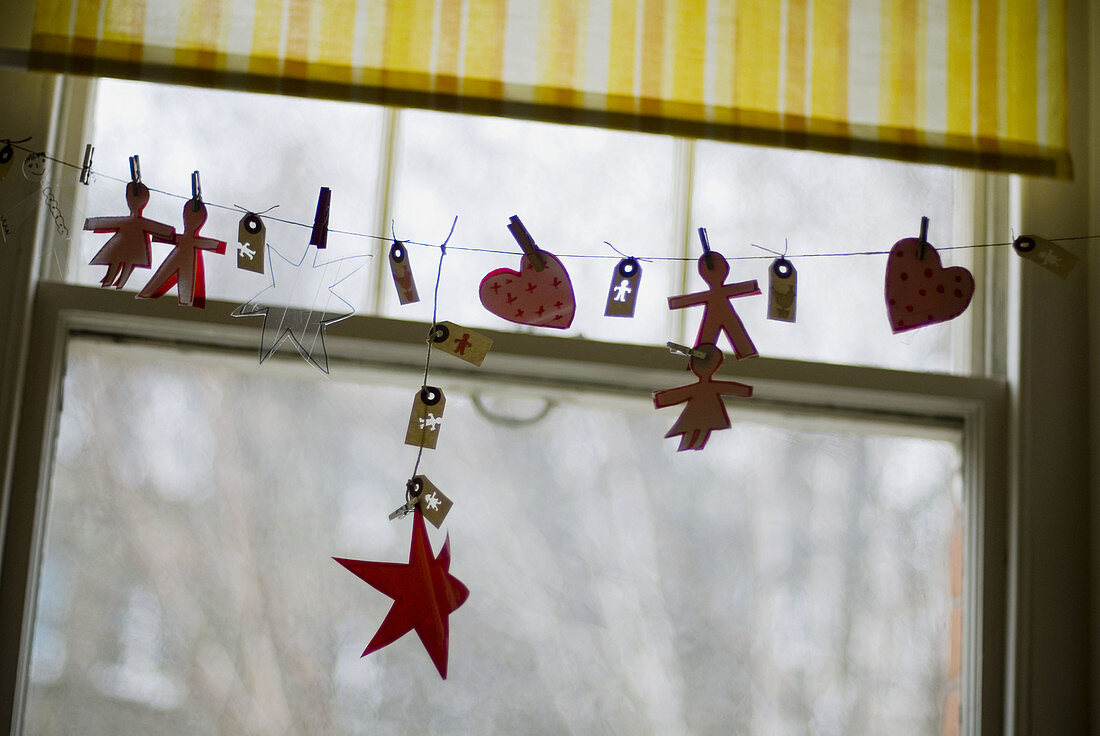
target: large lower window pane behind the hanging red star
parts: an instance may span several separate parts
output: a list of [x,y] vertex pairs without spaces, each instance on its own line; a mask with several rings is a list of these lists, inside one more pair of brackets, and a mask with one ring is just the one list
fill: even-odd
[[673,413],[645,397],[559,399],[517,426],[502,417],[542,408],[529,388],[474,402],[441,381],[448,428],[421,470],[455,502],[471,590],[441,683],[411,635],[360,658],[391,601],[330,559],[407,559],[409,521],[386,514],[419,378],[289,365],[70,344],[26,733],[957,721],[956,441],[754,413],[676,453]]

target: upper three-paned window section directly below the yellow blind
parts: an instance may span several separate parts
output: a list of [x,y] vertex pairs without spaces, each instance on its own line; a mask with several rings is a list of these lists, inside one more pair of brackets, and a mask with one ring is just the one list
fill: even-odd
[[[142,154],[143,179],[189,194],[189,175],[202,174],[206,199],[312,222],[317,193],[332,188],[333,228],[426,243],[441,242],[452,218],[455,245],[444,265],[440,305],[453,321],[513,329],[476,298],[482,276],[515,251],[505,226],[520,215],[536,240],[566,259],[580,308],[566,336],[609,342],[688,342],[698,315],[670,311],[664,296],[693,290],[693,262],[642,263],[634,319],[605,319],[603,300],[619,251],[657,259],[694,260],[695,228],[705,226],[714,248],[737,278],[767,288],[773,251],[789,246],[799,270],[796,323],[765,318],[765,297],[739,314],[761,354],[844,364],[970,373],[970,336],[980,325],[960,319],[895,338],[882,309],[882,264],[876,257],[799,259],[800,253],[887,251],[931,219],[937,245],[979,242],[974,190],[977,175],[938,166],[749,145],[630,134],[600,129],[463,117],[420,110],[304,100],[219,90],[101,80],[89,116],[96,161],[125,178],[128,156]],[[79,136],[85,140],[86,136]],[[78,150],[79,146],[78,146]],[[143,153],[147,152],[147,153]],[[293,163],[290,163],[293,162]],[[77,194],[85,194],[84,189]],[[87,188],[81,212],[111,212],[122,186],[103,179]],[[238,198],[248,197],[249,202]],[[233,201],[230,202],[229,200]],[[154,197],[146,215],[179,219],[183,200]],[[798,217],[792,217],[796,211]],[[82,216],[81,216],[82,217]],[[232,240],[241,212],[210,209],[204,232]],[[79,218],[77,218],[79,219]],[[268,240],[296,259],[308,230],[268,221]],[[98,285],[101,266],[87,265],[103,237],[74,238],[68,267],[74,283]],[[430,300],[403,307],[389,298],[388,240],[333,234],[332,256],[372,253],[371,268],[342,289],[361,314],[426,321]],[[64,250],[64,246],[58,246]],[[167,251],[167,246],[157,246]],[[156,254],[155,254],[156,255]],[[245,300],[267,276],[238,271],[228,257],[208,256],[209,296]],[[422,295],[435,275],[437,250],[411,246]],[[976,268],[970,251],[945,252],[950,264]],[[57,273],[54,263],[44,273]],[[134,274],[129,286],[142,285]],[[980,294],[979,294],[980,296]],[[697,311],[697,310],[696,310]],[[758,337],[759,336],[759,337]],[[981,337],[980,334],[978,336]]]

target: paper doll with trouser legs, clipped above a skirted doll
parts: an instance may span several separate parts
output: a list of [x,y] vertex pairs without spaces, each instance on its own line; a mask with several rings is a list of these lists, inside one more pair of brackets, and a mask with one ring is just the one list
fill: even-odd
[[[756,345],[745,331],[741,318],[734,311],[734,306],[729,300],[738,296],[755,296],[760,294],[760,287],[756,279],[750,282],[726,283],[729,275],[729,264],[722,253],[708,251],[698,259],[698,274],[711,288],[695,294],[682,294],[669,297],[669,309],[683,309],[703,305],[703,321],[698,326],[698,337],[695,338],[695,345],[706,343],[718,344],[718,334],[726,333],[729,343],[734,347],[734,354],[737,360],[752,358],[757,354]],[[728,425],[727,425],[728,427]]]

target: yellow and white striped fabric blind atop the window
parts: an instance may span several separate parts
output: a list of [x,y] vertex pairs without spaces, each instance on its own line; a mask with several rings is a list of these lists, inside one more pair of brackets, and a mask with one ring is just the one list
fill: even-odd
[[38,0],[34,68],[1070,176],[1066,0]]

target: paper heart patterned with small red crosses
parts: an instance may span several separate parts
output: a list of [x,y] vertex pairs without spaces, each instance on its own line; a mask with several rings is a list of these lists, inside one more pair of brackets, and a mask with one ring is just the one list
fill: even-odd
[[546,267],[535,271],[527,256],[519,259],[519,271],[497,268],[482,279],[477,294],[491,312],[517,325],[557,327],[573,323],[576,299],[565,266],[546,251],[539,251]]

